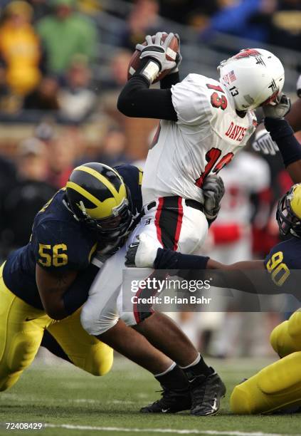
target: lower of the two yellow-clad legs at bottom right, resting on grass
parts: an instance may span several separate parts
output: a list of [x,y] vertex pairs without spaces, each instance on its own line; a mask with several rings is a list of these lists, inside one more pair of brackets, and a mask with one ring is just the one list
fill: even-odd
[[260,370],[231,394],[231,410],[238,414],[270,413],[301,405],[301,352],[292,353]]

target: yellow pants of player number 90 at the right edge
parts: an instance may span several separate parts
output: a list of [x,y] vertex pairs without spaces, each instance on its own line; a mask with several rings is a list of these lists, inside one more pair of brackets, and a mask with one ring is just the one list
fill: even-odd
[[231,394],[231,410],[238,414],[269,413],[301,405],[301,312],[275,327],[270,342],[280,357]]

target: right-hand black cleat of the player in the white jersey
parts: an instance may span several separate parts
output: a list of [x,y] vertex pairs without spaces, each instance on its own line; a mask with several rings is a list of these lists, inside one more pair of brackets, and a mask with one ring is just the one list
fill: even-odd
[[196,375],[190,378],[189,383],[191,385],[191,415],[216,415],[221,408],[221,399],[226,394],[226,386],[218,374],[213,371],[207,376]]

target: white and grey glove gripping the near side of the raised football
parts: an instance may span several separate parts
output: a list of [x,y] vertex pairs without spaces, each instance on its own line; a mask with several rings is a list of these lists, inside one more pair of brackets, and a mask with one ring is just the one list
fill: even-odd
[[171,39],[174,38],[174,33],[169,33],[165,41],[162,41],[162,32],[157,32],[154,36],[154,43],[152,36],[147,35],[145,41],[147,46],[137,44],[137,50],[141,50],[140,59],[152,58],[159,64],[159,72],[176,68],[176,61],[167,61],[167,48]]

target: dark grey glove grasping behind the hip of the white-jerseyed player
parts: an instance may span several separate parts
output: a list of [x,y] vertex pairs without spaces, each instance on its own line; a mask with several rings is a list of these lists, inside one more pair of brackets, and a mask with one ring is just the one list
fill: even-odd
[[204,214],[208,219],[215,219],[221,209],[221,199],[225,194],[223,179],[218,175],[208,175],[202,186],[204,194]]

